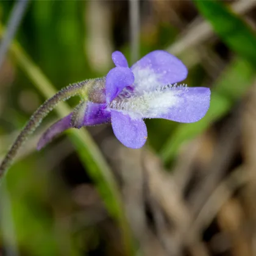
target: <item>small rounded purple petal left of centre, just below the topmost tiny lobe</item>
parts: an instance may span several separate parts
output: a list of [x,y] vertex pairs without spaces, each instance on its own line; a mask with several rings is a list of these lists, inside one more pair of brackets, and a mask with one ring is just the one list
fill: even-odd
[[106,101],[111,102],[123,88],[132,85],[134,76],[130,68],[112,68],[106,77]]

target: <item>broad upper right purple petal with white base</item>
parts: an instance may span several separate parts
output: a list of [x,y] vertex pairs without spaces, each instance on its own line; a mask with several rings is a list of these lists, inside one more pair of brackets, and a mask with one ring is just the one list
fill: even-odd
[[138,60],[132,67],[135,88],[152,91],[168,84],[175,84],[187,77],[186,66],[166,51],[153,51]]

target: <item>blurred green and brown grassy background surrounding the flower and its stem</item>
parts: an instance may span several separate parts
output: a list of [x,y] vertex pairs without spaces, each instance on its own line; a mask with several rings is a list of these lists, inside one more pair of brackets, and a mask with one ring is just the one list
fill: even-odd
[[[16,4],[0,2],[1,38]],[[46,98],[105,76],[115,50],[132,64],[166,49],[212,101],[194,124],[146,120],[142,149],[102,125],[37,152],[79,99],[60,104],[2,180],[1,255],[256,255],[255,28],[255,0],[27,1],[0,68],[1,158]]]

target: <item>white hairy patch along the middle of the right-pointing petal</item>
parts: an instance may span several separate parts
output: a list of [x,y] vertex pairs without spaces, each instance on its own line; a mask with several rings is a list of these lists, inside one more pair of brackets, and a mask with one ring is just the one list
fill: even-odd
[[169,85],[161,90],[143,91],[141,95],[130,94],[129,98],[117,97],[109,107],[127,113],[131,118],[157,118],[168,113],[169,108],[182,104],[180,92],[179,87]]

